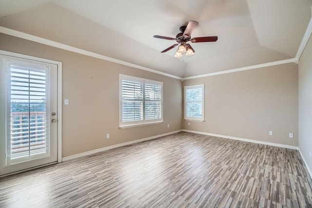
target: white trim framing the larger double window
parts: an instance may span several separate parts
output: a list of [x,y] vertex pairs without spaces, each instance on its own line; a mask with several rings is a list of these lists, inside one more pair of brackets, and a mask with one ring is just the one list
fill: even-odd
[[[122,80],[127,78],[127,80],[133,81],[142,81],[143,82],[143,120],[140,121],[122,121]],[[152,120],[145,120],[145,83],[155,83],[161,86],[161,118],[159,119],[152,119]],[[147,125],[155,125],[163,123],[163,82],[140,78],[136,76],[128,76],[119,74],[119,128],[126,129],[126,128],[133,128],[139,126],[147,126]]]

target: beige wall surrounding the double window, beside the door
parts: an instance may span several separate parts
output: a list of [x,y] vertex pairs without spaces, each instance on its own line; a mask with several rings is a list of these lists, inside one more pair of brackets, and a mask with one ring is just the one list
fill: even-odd
[[[181,129],[181,80],[3,34],[0,50],[62,62],[63,157]],[[118,128],[119,74],[163,82],[164,123]]]

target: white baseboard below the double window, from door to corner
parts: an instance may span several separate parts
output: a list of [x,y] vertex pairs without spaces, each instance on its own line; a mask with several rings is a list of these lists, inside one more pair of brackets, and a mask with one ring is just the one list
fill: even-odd
[[100,149],[97,149],[97,150],[86,151],[86,152],[82,152],[82,153],[79,153],[79,154],[74,154],[74,155],[71,155],[71,156],[68,156],[68,157],[63,157],[62,158],[62,162],[66,162],[66,161],[69,161],[69,160],[77,159],[77,158],[83,157],[83,156],[88,156],[88,155],[95,154],[95,153],[102,152],[102,151],[115,149],[115,148],[118,148],[118,147],[123,147],[123,146],[132,145],[132,144],[136,144],[136,143],[139,143],[139,142],[144,142],[144,141],[151,140],[151,139],[156,139],[158,137],[167,136],[167,135],[174,134],[174,133],[177,133],[177,132],[182,132],[182,130],[177,130],[177,131],[174,131],[174,132],[163,133],[163,134],[159,134],[159,135],[156,135],[156,136],[150,136],[150,137],[137,139],[137,140],[130,141],[130,142],[124,142],[124,143],[117,144],[117,145],[103,147],[103,148],[100,148]]

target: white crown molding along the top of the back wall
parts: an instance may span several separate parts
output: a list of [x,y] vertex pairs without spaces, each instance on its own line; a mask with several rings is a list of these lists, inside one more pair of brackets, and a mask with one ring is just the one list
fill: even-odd
[[263,68],[263,67],[268,67],[268,66],[275,66],[275,65],[285,64],[285,63],[295,63],[295,58],[289,58],[289,59],[280,60],[280,61],[273,61],[273,62],[269,62],[269,63],[257,64],[257,65],[253,65],[253,66],[246,66],[246,67],[241,67],[241,68],[236,68],[236,69],[224,70],[224,71],[220,71],[220,72],[213,72],[213,73],[204,74],[204,75],[189,76],[189,77],[184,77],[183,80],[195,79],[195,78],[206,77],[206,76],[222,75],[222,74],[228,74],[228,73],[233,73],[233,72],[240,72],[240,71],[258,69],[258,68]]

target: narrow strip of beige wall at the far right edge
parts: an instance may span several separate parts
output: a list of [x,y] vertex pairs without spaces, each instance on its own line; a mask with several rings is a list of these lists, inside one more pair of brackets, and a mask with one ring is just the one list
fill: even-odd
[[[299,149],[312,170],[312,38],[299,60]],[[312,175],[311,175],[312,177]]]

